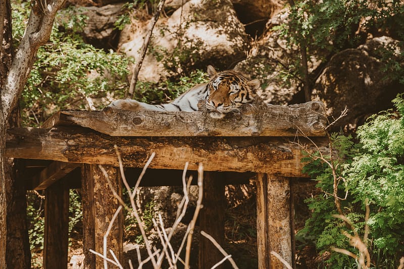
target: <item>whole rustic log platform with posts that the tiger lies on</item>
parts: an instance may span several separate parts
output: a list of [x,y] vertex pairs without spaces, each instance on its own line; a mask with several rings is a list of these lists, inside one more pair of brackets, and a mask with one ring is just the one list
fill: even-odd
[[[243,106],[240,114],[216,120],[205,112],[135,113],[107,108],[100,112],[64,111],[42,128],[9,129],[6,156],[26,159],[27,171],[37,169],[35,160],[42,160],[40,164],[45,166],[25,173],[32,189],[46,190],[44,268],[61,267],[61,260],[67,259],[68,188],[77,187],[83,191],[84,267],[103,266],[88,249],[102,252],[109,224],[105,220],[112,217],[118,201],[106,191],[109,187],[105,177],[95,165],[108,166],[110,178],[116,179],[114,188],[120,193],[114,145],[126,168],[143,167],[151,152],[156,152],[156,157],[149,167],[165,169],[165,175],[178,175],[176,171],[185,162],[190,162],[190,170],[203,163],[207,175],[200,225],[208,234],[219,237],[219,242],[220,237],[224,238],[224,184],[243,182],[256,175],[259,268],[283,268],[271,251],[293,264],[291,179],[307,177],[301,172],[304,164],[300,162],[300,145],[306,144],[306,150],[311,152],[327,150],[323,110],[323,104],[316,101],[290,106],[256,103]],[[309,141],[301,134],[312,138]],[[299,144],[291,142],[296,139]],[[227,173],[230,180],[225,179]],[[176,184],[171,179],[156,182],[151,177],[143,183]],[[210,220],[215,220],[215,225]],[[122,216],[114,229],[109,247],[122,258]],[[200,268],[222,258],[209,249],[207,242],[200,242]]]

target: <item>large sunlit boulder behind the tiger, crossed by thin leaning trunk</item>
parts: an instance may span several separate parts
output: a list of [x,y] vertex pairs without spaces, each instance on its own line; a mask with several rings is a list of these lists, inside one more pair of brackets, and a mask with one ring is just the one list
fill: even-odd
[[[137,59],[147,24],[133,21],[128,27],[119,48]],[[209,64],[227,69],[245,57],[246,44],[248,37],[229,0],[191,0],[155,26],[139,79],[157,82],[194,69],[205,70]]]

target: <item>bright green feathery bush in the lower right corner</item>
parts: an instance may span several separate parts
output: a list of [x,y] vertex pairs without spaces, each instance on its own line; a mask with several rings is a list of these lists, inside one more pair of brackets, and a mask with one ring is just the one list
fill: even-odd
[[[365,200],[370,205],[370,228],[368,249],[372,253],[375,268],[394,268],[399,253],[404,251],[404,100],[398,95],[393,100],[396,111],[372,116],[358,129],[358,143],[342,135],[333,135],[331,143],[338,150],[333,164],[340,177],[338,196],[347,219],[354,224],[359,234],[364,234]],[[330,159],[329,156],[325,156]],[[324,194],[307,199],[312,216],[301,234],[315,238],[320,253],[331,247],[347,249],[359,254],[349,246],[341,234],[346,225],[334,217],[333,177],[331,168],[316,157],[306,158],[309,164],[305,171],[318,180]],[[301,235],[300,234],[300,235]],[[330,268],[349,267],[352,259],[331,251],[326,261]]]

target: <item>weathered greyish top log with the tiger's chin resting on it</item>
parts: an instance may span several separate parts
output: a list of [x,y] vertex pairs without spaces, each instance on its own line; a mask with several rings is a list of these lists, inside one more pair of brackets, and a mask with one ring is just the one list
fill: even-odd
[[[255,103],[240,114],[212,119],[205,111],[128,112],[106,107],[103,111],[61,111],[42,128],[79,125],[111,136],[324,136],[324,105],[311,101],[289,106]],[[158,130],[158,131],[157,131]]]

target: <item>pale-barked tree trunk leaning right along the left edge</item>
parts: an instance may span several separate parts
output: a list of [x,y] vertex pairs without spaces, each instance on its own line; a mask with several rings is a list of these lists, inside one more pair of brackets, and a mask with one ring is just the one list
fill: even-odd
[[[2,54],[0,58],[2,65],[0,67],[0,268],[5,268],[6,253],[7,253],[7,186],[5,174],[5,145],[6,145],[6,128],[7,121],[12,114],[12,111],[21,95],[24,84],[27,80],[31,70],[36,51],[38,47],[44,44],[51,34],[53,21],[57,10],[62,6],[65,0],[54,0],[47,4],[45,9],[41,9],[40,2],[34,2],[31,9],[31,14],[28,19],[27,28],[23,38],[21,39],[19,48],[10,69],[5,68],[4,57],[10,57],[10,53],[5,53],[4,44],[12,46],[10,39],[6,40],[5,37],[11,36],[11,16],[8,16],[8,26],[4,27],[5,34],[2,42]],[[6,6],[6,9],[5,9]],[[6,18],[4,11],[10,8],[10,1],[2,0],[0,2],[0,18]],[[11,9],[9,9],[11,11]],[[3,25],[3,21],[0,22]],[[12,48],[11,48],[12,51]]]

